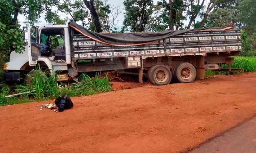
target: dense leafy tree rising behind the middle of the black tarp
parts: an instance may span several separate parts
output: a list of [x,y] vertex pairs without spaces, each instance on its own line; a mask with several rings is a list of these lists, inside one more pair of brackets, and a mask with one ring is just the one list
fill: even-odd
[[123,24],[132,32],[147,30],[150,16],[153,13],[153,0],[125,0]]

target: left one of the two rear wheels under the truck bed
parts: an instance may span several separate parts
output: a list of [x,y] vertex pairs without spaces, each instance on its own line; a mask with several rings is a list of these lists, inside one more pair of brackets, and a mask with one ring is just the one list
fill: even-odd
[[153,66],[148,71],[148,79],[154,85],[167,85],[172,79],[171,70],[165,65]]

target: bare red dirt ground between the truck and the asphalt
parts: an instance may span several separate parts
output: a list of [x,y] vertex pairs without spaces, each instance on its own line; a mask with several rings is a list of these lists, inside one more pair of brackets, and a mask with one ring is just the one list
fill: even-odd
[[256,73],[203,82],[0,107],[0,152],[186,152],[256,115]]

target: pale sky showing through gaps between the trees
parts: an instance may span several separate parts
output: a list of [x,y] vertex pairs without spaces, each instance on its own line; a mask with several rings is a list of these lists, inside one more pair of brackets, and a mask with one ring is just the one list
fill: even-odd
[[[158,1],[158,0],[154,0],[154,4],[156,4],[157,1]],[[121,28],[121,27],[122,27],[122,23],[123,23],[123,20],[124,20],[124,5],[123,5],[123,2],[124,2],[124,0],[108,0],[108,3],[109,3],[110,5],[119,6],[119,7],[121,8],[121,10],[122,10],[122,13],[121,13],[121,14],[118,16],[118,18],[117,18],[117,20],[118,20],[118,25],[117,25],[117,27],[118,27],[118,28]],[[206,4],[206,3],[207,3],[207,2],[205,2],[205,4]],[[57,10],[57,7],[52,7],[52,10],[53,10],[53,11]],[[65,13],[59,12],[58,14],[60,15],[61,18],[66,18],[66,17],[69,17],[69,18],[70,18],[70,16],[66,15]],[[39,19],[39,23],[36,24],[37,26],[40,26],[40,27],[41,27],[41,26],[47,26],[47,25],[49,25],[48,23],[45,22],[44,16],[45,16],[44,14],[41,15],[41,18]],[[24,15],[19,15],[19,16],[18,16],[18,20],[19,20],[19,24],[21,25],[21,27],[25,26],[24,22],[26,22],[26,17],[25,17]],[[199,20],[199,18],[196,19],[196,20]],[[184,24],[185,24],[185,25],[188,25],[188,22],[189,22],[189,21],[186,20],[186,21],[184,21]]]

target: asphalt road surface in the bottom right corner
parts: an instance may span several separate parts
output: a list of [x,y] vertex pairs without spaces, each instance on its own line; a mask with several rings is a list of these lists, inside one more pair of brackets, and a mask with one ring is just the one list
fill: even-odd
[[255,153],[256,117],[214,138],[190,153]]

